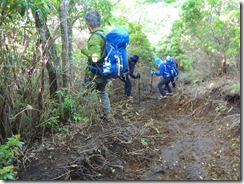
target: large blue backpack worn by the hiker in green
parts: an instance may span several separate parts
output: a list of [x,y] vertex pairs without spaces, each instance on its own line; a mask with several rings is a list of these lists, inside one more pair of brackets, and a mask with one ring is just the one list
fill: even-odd
[[129,44],[129,33],[123,28],[115,28],[105,35],[102,31],[94,34],[100,35],[105,40],[105,51],[102,64],[88,65],[89,71],[100,74],[103,78],[117,78],[121,76],[128,66],[126,47]]

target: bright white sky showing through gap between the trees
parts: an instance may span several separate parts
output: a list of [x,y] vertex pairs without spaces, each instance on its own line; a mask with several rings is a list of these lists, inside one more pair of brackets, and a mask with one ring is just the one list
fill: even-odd
[[[112,2],[117,2],[117,0],[112,0]],[[116,9],[113,14],[127,17],[131,22],[142,24],[144,33],[154,44],[158,42],[159,38],[169,33],[173,21],[178,18],[178,9],[174,7],[174,4],[164,2],[145,4],[143,2],[143,0],[121,0],[117,4],[120,8]]]

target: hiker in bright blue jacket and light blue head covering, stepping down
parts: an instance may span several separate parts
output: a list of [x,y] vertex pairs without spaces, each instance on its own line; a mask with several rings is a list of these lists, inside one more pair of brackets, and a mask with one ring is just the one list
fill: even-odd
[[[160,58],[156,58],[154,60],[155,64],[158,66],[158,71],[155,70],[151,70],[151,74],[152,75],[156,75],[156,76],[162,76],[162,79],[159,81],[159,83],[157,84],[157,87],[159,89],[159,92],[161,94],[161,96],[159,96],[159,99],[164,99],[167,98],[168,96],[172,96],[173,92],[172,89],[169,86],[169,83],[172,80],[171,75],[167,72],[166,70],[166,66],[165,63],[160,59]],[[166,94],[165,91],[163,90],[163,86],[165,85],[168,93]]]

